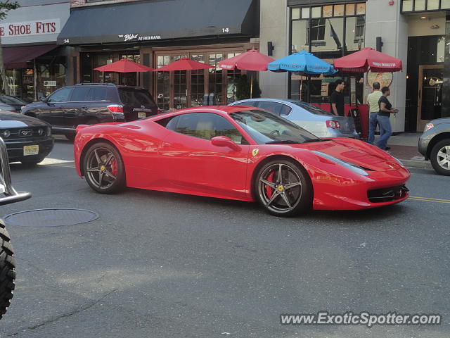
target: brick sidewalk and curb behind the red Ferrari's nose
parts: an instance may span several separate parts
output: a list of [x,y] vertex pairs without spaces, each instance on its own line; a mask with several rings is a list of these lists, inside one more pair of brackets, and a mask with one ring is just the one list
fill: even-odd
[[[387,141],[387,146],[391,147],[390,154],[398,158],[406,167],[432,168],[430,161],[425,161],[425,158],[418,151],[418,141],[421,134],[420,132],[402,132],[391,136]],[[375,135],[375,142],[377,142],[378,137],[378,135]]]

